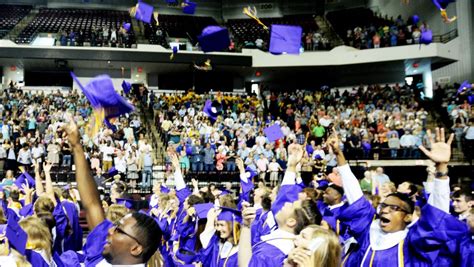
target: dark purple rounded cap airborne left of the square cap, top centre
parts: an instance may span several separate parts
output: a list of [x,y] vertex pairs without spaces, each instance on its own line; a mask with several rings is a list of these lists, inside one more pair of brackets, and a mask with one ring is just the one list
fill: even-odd
[[229,31],[220,26],[207,26],[198,36],[199,45],[204,52],[222,51],[229,47]]

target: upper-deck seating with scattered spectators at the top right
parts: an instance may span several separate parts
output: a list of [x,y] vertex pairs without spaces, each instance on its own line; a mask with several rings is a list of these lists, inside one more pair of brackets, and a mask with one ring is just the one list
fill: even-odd
[[333,11],[326,17],[346,45],[359,49],[418,44],[420,30],[428,27],[404,21],[401,16],[383,18],[366,8]]

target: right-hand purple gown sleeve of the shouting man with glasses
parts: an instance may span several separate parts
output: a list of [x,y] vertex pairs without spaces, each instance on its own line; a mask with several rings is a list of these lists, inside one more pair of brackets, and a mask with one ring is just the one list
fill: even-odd
[[424,261],[434,263],[440,251],[454,257],[459,240],[467,234],[467,226],[454,216],[425,205],[419,221],[408,234],[409,250]]

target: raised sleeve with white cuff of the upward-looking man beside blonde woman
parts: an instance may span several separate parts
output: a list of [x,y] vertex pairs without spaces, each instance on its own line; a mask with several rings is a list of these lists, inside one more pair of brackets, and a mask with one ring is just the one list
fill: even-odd
[[286,202],[298,200],[298,193],[301,190],[301,187],[296,184],[296,173],[287,171],[275,201],[272,203],[273,214],[276,215]]

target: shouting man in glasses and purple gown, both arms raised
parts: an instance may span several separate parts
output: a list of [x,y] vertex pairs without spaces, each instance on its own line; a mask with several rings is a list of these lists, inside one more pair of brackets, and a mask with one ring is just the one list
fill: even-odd
[[403,193],[388,195],[379,206],[378,219],[374,219],[376,211],[363,197],[357,178],[339,148],[339,140],[329,138],[328,145],[337,156],[349,202],[338,219],[349,227],[349,234],[358,243],[345,254],[343,266],[432,266],[440,262],[438,266],[445,266],[444,263],[453,262],[456,244],[467,229],[449,214],[447,171],[453,135],[446,143],[444,140],[444,129],[437,128],[436,143],[430,140],[431,151],[420,147],[436,163],[437,175],[428,204],[422,208],[420,219],[412,223],[414,203]]

